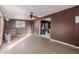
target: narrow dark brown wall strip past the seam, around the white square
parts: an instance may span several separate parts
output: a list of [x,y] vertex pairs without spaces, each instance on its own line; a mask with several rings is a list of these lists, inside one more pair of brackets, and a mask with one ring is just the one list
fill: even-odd
[[[79,16],[79,6],[74,8],[74,17]],[[79,46],[79,23],[75,23],[74,25],[74,40],[75,40],[75,45]]]

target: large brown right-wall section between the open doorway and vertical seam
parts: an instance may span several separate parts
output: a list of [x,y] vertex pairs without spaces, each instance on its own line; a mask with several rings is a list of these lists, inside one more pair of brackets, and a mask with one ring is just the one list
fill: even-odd
[[73,24],[73,9],[53,14],[51,20],[51,38],[73,44]]

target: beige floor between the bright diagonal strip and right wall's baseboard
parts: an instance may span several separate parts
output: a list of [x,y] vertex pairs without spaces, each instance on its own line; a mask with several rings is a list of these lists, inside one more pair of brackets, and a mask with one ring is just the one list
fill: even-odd
[[[6,47],[7,48],[7,47]],[[49,39],[33,36],[22,40],[9,50],[1,50],[0,53],[30,53],[30,54],[53,54],[53,53],[79,53],[79,49],[55,42]]]

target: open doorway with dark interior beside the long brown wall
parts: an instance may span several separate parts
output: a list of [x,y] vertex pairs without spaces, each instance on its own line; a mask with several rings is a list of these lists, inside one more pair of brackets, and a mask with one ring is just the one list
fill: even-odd
[[51,24],[51,18],[41,20],[40,34],[46,38],[50,38],[50,29],[51,29],[50,24]]

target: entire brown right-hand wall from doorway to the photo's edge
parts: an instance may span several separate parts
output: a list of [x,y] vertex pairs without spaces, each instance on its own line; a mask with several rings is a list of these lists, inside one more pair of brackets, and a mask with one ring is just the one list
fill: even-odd
[[52,14],[51,38],[79,46],[79,24],[75,23],[79,16],[79,6]]

